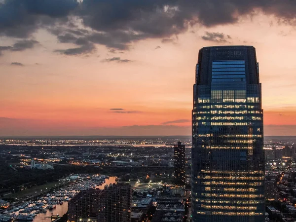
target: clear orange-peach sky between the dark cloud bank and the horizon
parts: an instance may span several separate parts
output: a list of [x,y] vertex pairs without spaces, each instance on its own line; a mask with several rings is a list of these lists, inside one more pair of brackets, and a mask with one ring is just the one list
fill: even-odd
[[[205,32],[231,38],[208,41],[201,38]],[[140,40],[124,53],[97,44],[93,53],[66,56],[53,52],[62,45],[47,31],[38,30],[34,38],[40,43],[33,49],[0,57],[0,136],[190,135],[198,50],[228,44],[256,47],[265,135],[296,135],[296,31],[270,16],[214,28],[196,25],[173,36],[174,42]],[[102,62],[112,57],[131,62]]]

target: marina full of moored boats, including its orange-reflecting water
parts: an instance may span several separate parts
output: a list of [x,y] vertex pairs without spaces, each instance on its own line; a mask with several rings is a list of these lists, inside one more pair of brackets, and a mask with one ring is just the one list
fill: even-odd
[[105,185],[116,183],[116,177],[104,175],[84,175],[75,183],[52,193],[44,194],[36,201],[24,202],[0,214],[0,222],[32,221],[51,222],[68,211],[68,201],[80,190],[89,188],[104,189]]

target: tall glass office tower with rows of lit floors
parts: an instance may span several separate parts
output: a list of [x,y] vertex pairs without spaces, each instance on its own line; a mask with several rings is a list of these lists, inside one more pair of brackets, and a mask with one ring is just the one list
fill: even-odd
[[199,50],[191,191],[193,222],[264,222],[263,111],[253,46]]

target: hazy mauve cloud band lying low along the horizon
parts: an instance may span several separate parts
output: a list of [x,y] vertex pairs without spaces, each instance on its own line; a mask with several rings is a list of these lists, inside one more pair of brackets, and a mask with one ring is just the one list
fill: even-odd
[[[74,122],[0,117],[0,136],[182,136],[191,135],[191,126],[130,125],[85,127]],[[265,136],[296,136],[296,125],[264,125]]]

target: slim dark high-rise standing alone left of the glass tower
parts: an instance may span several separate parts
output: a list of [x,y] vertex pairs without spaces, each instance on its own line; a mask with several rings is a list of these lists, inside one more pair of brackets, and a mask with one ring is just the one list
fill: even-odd
[[175,183],[182,186],[185,185],[185,145],[178,142],[174,151]]

